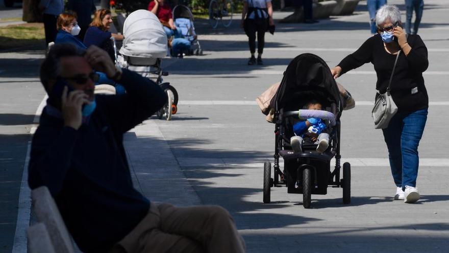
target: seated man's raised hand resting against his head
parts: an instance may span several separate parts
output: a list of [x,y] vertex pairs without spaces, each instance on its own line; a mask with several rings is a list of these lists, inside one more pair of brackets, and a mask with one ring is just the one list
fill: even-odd
[[114,77],[117,69],[109,57],[108,53],[96,45],[91,45],[84,58],[94,68],[94,70],[105,73],[109,78]]

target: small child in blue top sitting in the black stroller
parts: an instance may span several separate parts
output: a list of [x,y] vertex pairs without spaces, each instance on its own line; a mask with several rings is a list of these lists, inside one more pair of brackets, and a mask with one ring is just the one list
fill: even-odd
[[[309,101],[305,106],[308,110],[321,110],[321,103],[317,100]],[[290,138],[293,152],[303,152],[302,144],[305,138],[310,138],[312,143],[318,144],[316,151],[322,153],[329,147],[329,134],[323,132],[326,124],[318,118],[310,118],[293,125],[294,135]]]

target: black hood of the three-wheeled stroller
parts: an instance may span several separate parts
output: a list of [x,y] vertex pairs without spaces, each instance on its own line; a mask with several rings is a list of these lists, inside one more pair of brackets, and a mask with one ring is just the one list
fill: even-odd
[[[319,56],[301,54],[287,66],[276,95],[270,101],[270,107],[279,111],[297,102],[294,100],[318,99],[337,106],[337,118],[343,110],[342,98],[329,66]],[[294,108],[295,110],[301,108]]]

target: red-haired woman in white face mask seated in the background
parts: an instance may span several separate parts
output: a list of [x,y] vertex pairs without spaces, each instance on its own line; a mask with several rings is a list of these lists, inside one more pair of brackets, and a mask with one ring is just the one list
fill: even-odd
[[87,49],[86,45],[77,36],[81,28],[78,26],[77,16],[74,13],[61,13],[56,21],[58,33],[55,44],[70,43],[81,49]]

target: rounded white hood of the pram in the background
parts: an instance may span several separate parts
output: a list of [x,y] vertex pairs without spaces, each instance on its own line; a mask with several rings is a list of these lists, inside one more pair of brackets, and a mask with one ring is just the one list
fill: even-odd
[[167,35],[151,11],[131,13],[124,21],[123,36],[122,55],[141,58],[163,58],[167,55]]

